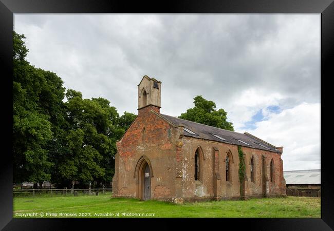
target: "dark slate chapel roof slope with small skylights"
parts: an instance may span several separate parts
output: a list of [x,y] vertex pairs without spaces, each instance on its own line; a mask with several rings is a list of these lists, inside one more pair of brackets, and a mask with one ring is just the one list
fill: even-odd
[[[236,144],[240,146],[281,153],[281,151],[277,149],[275,146],[267,142],[264,142],[263,140],[258,139],[247,132],[239,133],[235,131],[229,131],[229,130],[225,130],[221,128],[212,127],[212,126],[205,125],[205,124],[199,124],[199,123],[188,121],[188,120],[179,119],[177,117],[171,117],[170,115],[166,115],[166,114],[160,114],[160,115],[164,119],[170,121],[172,124],[183,125],[184,128],[187,128],[196,133],[196,134],[192,134],[184,130],[183,136],[194,137],[194,138],[205,139],[205,140],[213,140],[213,141],[217,141],[221,143]],[[226,141],[213,136],[213,134],[225,139]],[[242,140],[250,145],[244,144],[238,140]]]

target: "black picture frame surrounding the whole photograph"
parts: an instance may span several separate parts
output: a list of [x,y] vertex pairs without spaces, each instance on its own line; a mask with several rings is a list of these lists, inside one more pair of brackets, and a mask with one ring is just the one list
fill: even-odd
[[[333,173],[330,151],[325,150],[326,142],[332,136],[324,136],[326,129],[321,126],[321,218],[319,219],[15,219],[12,215],[12,29],[14,13],[319,13],[321,14],[321,121],[325,120],[325,109],[331,108],[330,98],[325,97],[330,92],[329,80],[334,76],[334,3],[333,0],[211,0],[211,1],[165,1],[165,2],[127,2],[104,0],[0,0],[0,63],[4,66],[2,76],[2,99],[6,101],[3,108],[3,126],[6,135],[3,148],[0,175],[0,228],[3,230],[64,230],[70,225],[83,226],[84,229],[116,227],[134,223],[144,225],[147,222],[158,221],[164,228],[174,228],[173,222],[181,220],[190,228],[204,224],[207,227],[245,226],[248,230],[332,230],[334,228],[333,204]],[[331,58],[331,59],[330,59]],[[328,83],[327,83],[328,82]],[[5,105],[5,104],[4,104]],[[327,115],[330,113],[327,113]],[[11,123],[8,123],[10,121]],[[326,123],[327,122],[327,123]],[[3,130],[4,131],[4,130]],[[8,133],[8,134],[7,134]],[[208,226],[209,225],[209,226]],[[123,226],[125,227],[125,226]],[[157,228],[157,227],[156,227]]]

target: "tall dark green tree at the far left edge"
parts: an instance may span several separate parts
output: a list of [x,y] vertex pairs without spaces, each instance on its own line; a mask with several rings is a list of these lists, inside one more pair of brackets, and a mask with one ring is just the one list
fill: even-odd
[[[50,180],[49,143],[62,121],[63,81],[26,61],[23,34],[13,31],[13,180]],[[41,184],[40,184],[41,186]]]

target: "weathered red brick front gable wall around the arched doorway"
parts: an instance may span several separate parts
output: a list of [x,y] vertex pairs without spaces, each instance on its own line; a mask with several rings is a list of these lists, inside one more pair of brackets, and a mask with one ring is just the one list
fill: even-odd
[[[151,199],[172,198],[175,194],[175,129],[151,110],[160,108],[149,105],[139,109],[138,117],[117,142],[115,188],[127,188],[127,195],[141,197],[141,176],[136,165],[145,156],[152,166]],[[145,136],[143,136],[145,128]],[[162,186],[163,185],[163,186]],[[114,187],[114,185],[113,185]],[[115,196],[127,196],[119,190]]]

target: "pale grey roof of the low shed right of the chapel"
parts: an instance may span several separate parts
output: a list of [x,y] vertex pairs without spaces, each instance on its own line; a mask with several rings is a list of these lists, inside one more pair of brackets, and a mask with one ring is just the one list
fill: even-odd
[[321,184],[321,169],[283,171],[286,184]]

